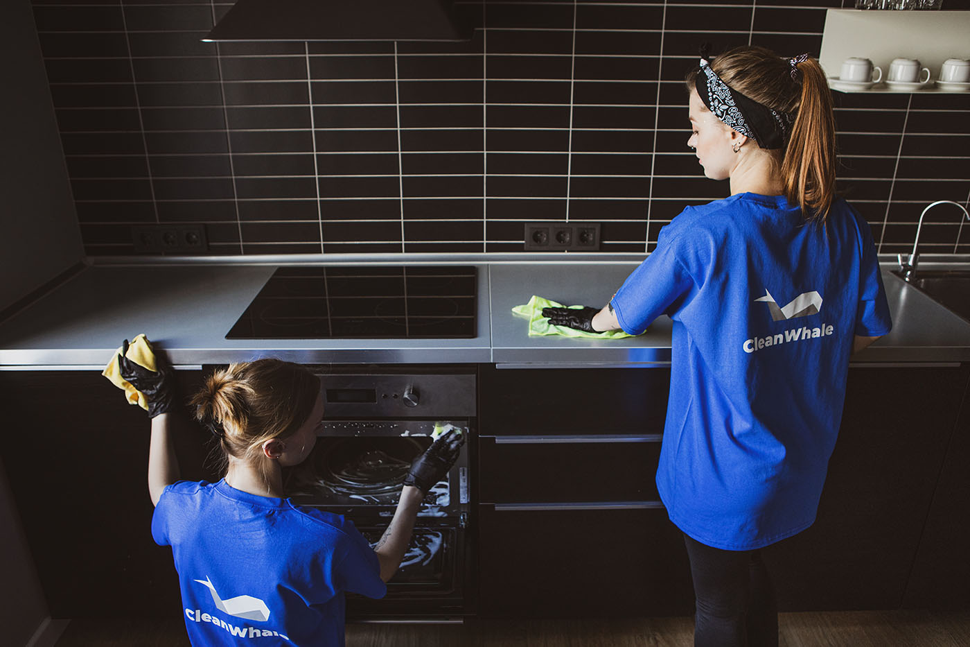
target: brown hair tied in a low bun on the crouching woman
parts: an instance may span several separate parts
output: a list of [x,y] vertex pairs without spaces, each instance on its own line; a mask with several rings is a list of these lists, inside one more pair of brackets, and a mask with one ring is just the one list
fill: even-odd
[[264,442],[299,429],[319,392],[320,378],[304,366],[265,358],[215,371],[190,403],[196,419],[218,434],[224,469],[227,455],[254,461]]

